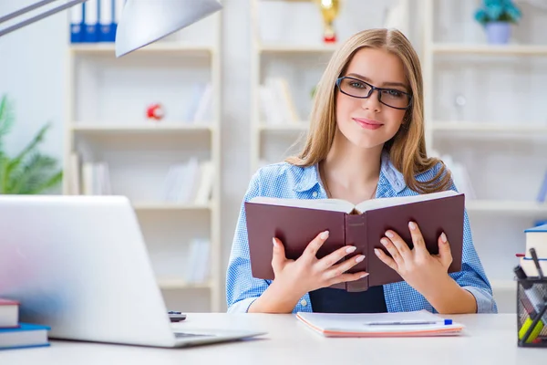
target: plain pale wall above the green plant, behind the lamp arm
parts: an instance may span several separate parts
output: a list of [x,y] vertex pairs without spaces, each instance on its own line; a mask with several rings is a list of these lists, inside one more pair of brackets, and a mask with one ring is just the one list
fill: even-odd
[[[2,1],[0,15],[33,3],[36,1]],[[60,13],[0,38],[0,94],[7,93],[15,102],[15,129],[6,139],[11,153],[23,148],[50,121],[52,129],[42,151],[62,157],[66,19],[65,13]]]

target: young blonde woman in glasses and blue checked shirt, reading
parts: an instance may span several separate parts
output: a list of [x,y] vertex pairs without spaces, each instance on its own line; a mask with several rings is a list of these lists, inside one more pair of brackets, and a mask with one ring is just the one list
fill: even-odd
[[[444,164],[427,156],[423,108],[419,60],[408,39],[387,29],[352,36],[335,52],[318,85],[304,150],[256,172],[244,201],[260,195],[359,203],[456,190]],[[329,286],[366,276],[346,273],[364,257],[336,264],[353,252],[343,247],[317,259],[328,232],[319,233],[297,260],[286,259],[284,243],[272,237],[275,279],[254,278],[242,204],[227,271],[228,311],[496,312],[467,213],[464,224],[460,272],[448,274],[449,237],[441,234],[439,255],[430,255],[418,225],[409,222],[415,248],[410,250],[397,232],[387,231],[381,243],[391,257],[377,250],[404,281],[355,293]]]

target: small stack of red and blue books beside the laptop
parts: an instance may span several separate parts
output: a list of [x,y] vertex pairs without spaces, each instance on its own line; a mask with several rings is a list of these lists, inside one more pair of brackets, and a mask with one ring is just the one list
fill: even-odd
[[19,303],[0,298],[0,349],[49,346],[46,326],[19,322]]

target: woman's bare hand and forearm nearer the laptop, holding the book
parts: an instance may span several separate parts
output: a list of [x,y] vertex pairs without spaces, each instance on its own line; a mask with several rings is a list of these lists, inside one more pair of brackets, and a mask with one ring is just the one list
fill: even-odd
[[284,245],[274,237],[274,282],[256,298],[248,308],[250,313],[291,313],[298,300],[304,294],[337,283],[355,281],[368,273],[361,271],[355,274],[347,270],[363,261],[365,255],[356,255],[350,260],[338,263],[346,255],[355,252],[356,247],[344,246],[335,252],[318,259],[316,254],[328,238],[328,232],[317,235],[310,242],[304,253],[297,260],[285,256]]

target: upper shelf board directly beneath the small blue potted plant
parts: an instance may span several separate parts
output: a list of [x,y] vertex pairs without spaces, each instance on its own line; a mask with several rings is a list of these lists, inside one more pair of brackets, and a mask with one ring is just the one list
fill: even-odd
[[475,54],[489,56],[547,56],[547,46],[433,43],[434,53]]

